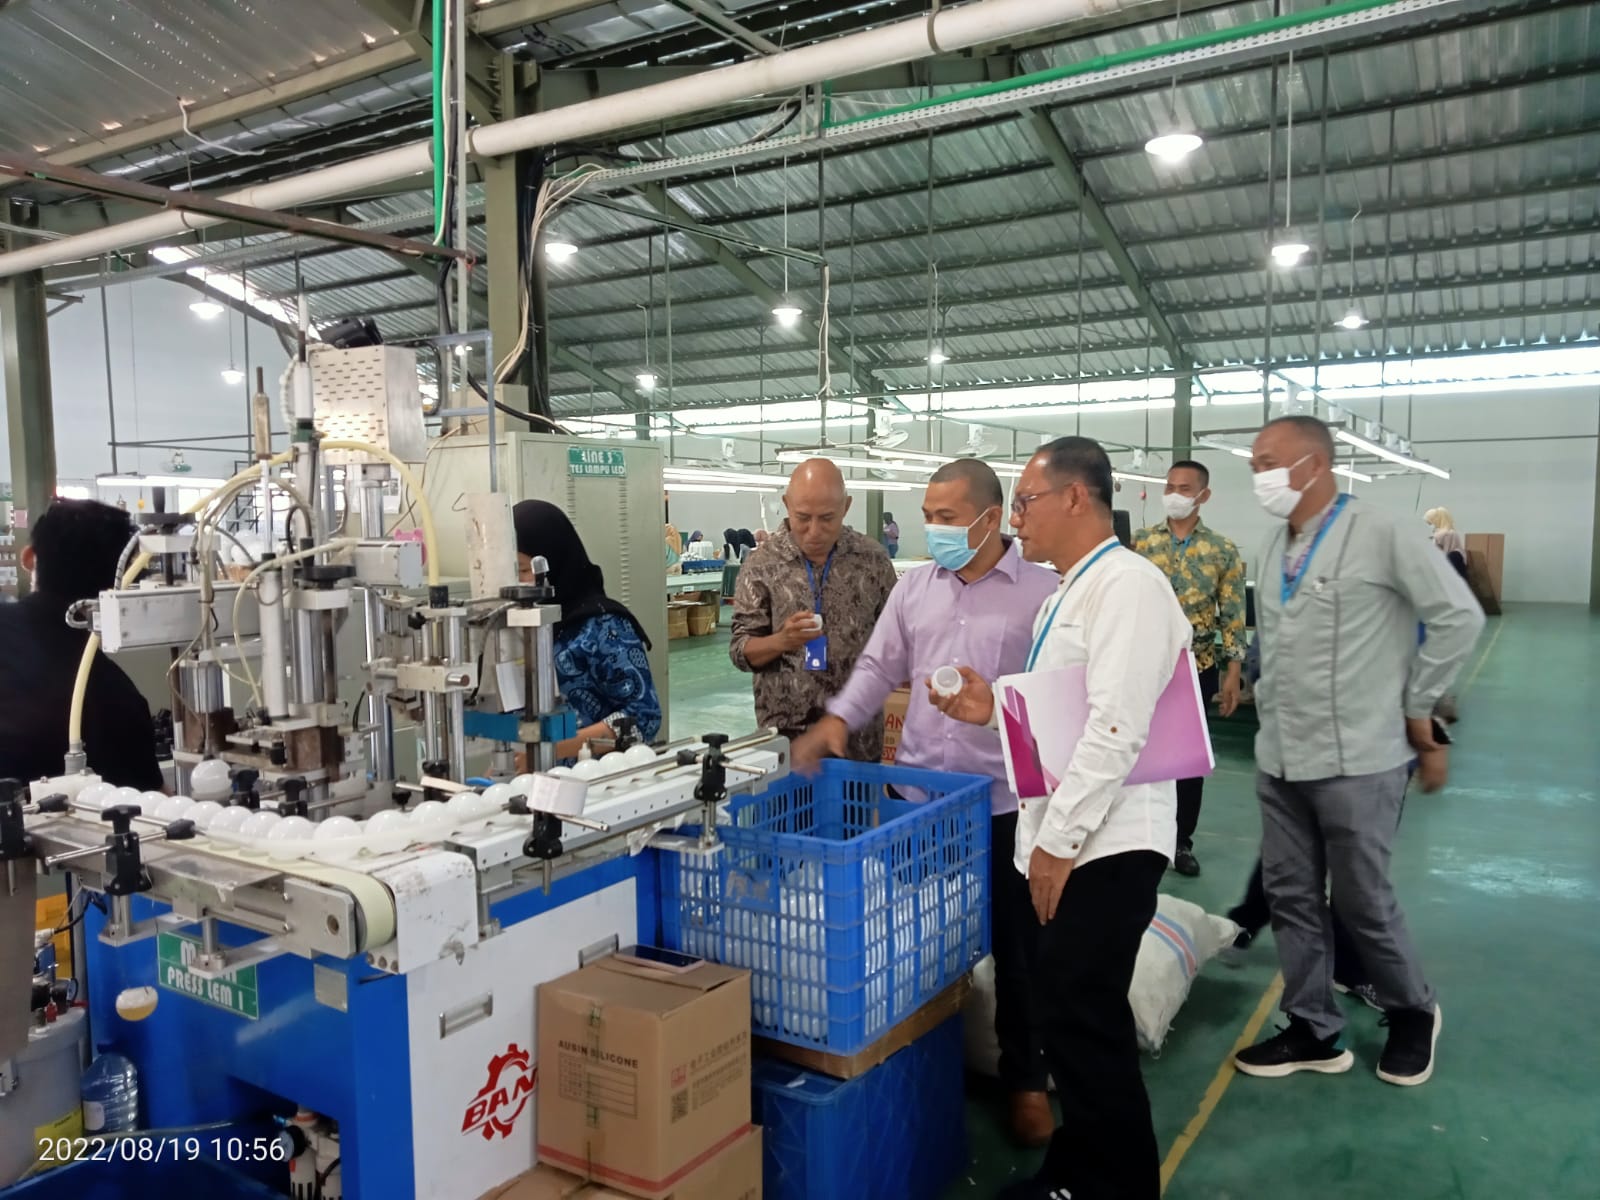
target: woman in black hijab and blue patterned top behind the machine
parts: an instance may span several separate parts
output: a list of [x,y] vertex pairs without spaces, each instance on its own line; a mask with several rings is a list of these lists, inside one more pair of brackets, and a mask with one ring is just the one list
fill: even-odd
[[517,568],[533,582],[533,560],[550,565],[549,582],[562,606],[555,626],[555,678],[578,714],[578,738],[555,754],[571,758],[594,738],[610,739],[629,717],[643,741],[661,733],[661,699],[650,677],[650,637],[627,608],[605,594],[600,568],[589,562],[578,530],[566,514],[546,501],[522,501],[512,509],[517,526]]

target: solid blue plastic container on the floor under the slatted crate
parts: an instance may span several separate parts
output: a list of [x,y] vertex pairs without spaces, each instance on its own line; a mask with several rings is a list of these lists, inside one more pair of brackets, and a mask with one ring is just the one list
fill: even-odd
[[966,1166],[962,1021],[853,1080],[754,1064],[766,1200],[934,1200]]

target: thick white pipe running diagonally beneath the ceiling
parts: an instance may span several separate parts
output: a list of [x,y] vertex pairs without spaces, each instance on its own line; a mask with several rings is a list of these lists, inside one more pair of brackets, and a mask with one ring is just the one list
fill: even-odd
[[[862,34],[717,67],[699,75],[485,125],[469,134],[469,142],[475,157],[494,158],[534,146],[592,139],[637,125],[654,126],[672,117],[685,117],[752,96],[792,91],[808,83],[875,67],[1005,42],[1080,16],[1110,13],[1128,3],[1133,0],[974,0],[960,8],[941,8],[931,18],[918,16]],[[365,158],[352,158],[338,166],[227,192],[222,198],[253,208],[293,208],[430,170],[432,149],[427,141],[418,141]],[[61,262],[99,258],[112,250],[147,245],[216,224],[221,224],[221,219],[198,213],[155,213],[0,254],[0,278]]]

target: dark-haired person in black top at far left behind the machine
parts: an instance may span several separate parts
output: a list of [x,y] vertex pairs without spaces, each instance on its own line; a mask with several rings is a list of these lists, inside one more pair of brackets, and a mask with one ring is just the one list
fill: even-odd
[[[22,570],[34,590],[0,605],[0,778],[61,774],[72,683],[88,632],[70,629],[67,608],[112,587],[117,558],[133,538],[126,512],[94,501],[58,499],[34,525]],[[106,782],[163,787],[150,706],[122,667],[94,656],[83,701],[83,750]]]

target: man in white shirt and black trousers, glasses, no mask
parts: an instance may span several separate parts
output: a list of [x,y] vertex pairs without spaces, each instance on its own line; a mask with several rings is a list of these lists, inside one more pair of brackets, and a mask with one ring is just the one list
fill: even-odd
[[[1178,795],[1171,782],[1130,787],[1126,778],[1194,632],[1166,576],[1117,541],[1110,459],[1098,442],[1042,446],[1018,480],[1011,526],[1026,558],[1061,571],[1027,669],[1085,667],[1090,715],[1061,786],[1018,811],[1016,867],[1043,926],[1035,1006],[1061,1126],[1038,1174],[1002,1197],[1157,1200],[1160,1154],[1128,987],[1176,848]],[[962,675],[954,698],[930,686],[931,702],[992,723],[989,682]]]

